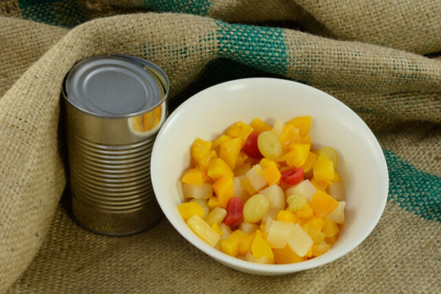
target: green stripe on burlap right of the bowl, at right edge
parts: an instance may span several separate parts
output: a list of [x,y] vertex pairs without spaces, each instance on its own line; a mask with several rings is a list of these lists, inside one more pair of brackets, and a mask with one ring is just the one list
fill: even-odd
[[418,170],[383,150],[389,170],[389,200],[429,220],[441,221],[441,177]]

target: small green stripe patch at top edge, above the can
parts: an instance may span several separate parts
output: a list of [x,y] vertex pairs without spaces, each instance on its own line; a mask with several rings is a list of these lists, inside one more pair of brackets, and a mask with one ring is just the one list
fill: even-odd
[[206,16],[210,9],[209,0],[146,0],[144,8],[163,12],[184,12]]

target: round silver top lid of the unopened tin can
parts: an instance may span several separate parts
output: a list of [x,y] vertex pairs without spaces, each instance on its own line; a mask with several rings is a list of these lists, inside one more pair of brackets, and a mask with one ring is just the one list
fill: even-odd
[[89,115],[124,118],[155,109],[166,100],[168,87],[166,74],[147,60],[94,56],[72,67],[63,93],[69,103]]

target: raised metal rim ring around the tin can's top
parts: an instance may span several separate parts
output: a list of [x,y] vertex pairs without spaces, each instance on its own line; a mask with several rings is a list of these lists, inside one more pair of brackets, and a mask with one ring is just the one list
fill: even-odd
[[[87,60],[89,58],[104,58],[104,57],[107,57],[107,58],[113,57],[113,58],[120,58],[122,60],[128,60],[128,61],[131,61],[133,63],[133,65],[137,65],[139,67],[142,67],[142,69],[144,69],[144,70],[150,69],[150,71],[153,74],[155,74],[155,77],[159,80],[159,82],[161,82],[161,85],[162,85],[163,89],[165,90],[163,97],[160,100],[158,100],[158,102],[156,104],[150,106],[148,109],[144,109],[144,110],[138,111],[136,113],[129,113],[129,114],[124,114],[124,115],[115,114],[112,116],[106,116],[106,115],[102,115],[100,113],[94,113],[93,111],[88,111],[87,109],[82,109],[82,108],[78,107],[78,105],[72,103],[69,100],[69,98],[67,97],[67,92],[66,92],[66,80],[67,80],[67,77],[69,76],[69,73],[71,72],[71,70],[74,69],[74,67],[78,63],[82,62],[83,60]],[[161,106],[163,102],[168,100],[168,94],[170,93],[170,81],[168,80],[168,76],[163,71],[163,69],[161,69],[161,67],[158,67],[157,65],[155,65],[155,63],[152,63],[144,58],[139,58],[139,57],[130,56],[130,55],[124,55],[124,54],[97,55],[97,56],[89,56],[88,58],[84,58],[82,60],[79,60],[77,63],[75,63],[75,65],[73,67],[71,67],[71,69],[69,69],[69,71],[65,75],[65,78],[63,78],[63,87],[61,88],[61,93],[63,94],[64,100],[67,103],[69,103],[69,105],[71,105],[72,107],[74,107],[74,109],[76,109],[82,113],[85,113],[87,115],[91,115],[94,117],[99,117],[102,119],[109,119],[109,120],[126,119],[126,118],[130,118],[130,117],[137,117],[139,115],[143,115],[144,113],[148,113],[154,109],[157,109],[157,107]]]

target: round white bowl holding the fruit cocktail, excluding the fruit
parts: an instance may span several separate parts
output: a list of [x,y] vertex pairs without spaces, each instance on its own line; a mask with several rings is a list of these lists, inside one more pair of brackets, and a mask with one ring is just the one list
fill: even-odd
[[[181,218],[181,174],[190,166],[196,137],[213,140],[234,122],[254,117],[273,124],[310,115],[313,148],[332,146],[339,153],[337,171],[346,187],[346,221],[324,255],[295,264],[256,264],[232,258],[199,239]],[[233,269],[260,275],[282,275],[332,262],[357,247],[383,214],[389,177],[381,147],[370,128],[345,104],[313,87],[274,78],[247,78],[217,84],[183,102],[166,120],[151,159],[157,201],[175,229],[192,245]]]

